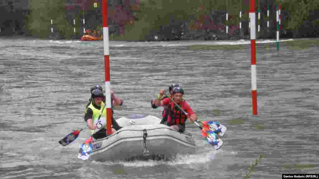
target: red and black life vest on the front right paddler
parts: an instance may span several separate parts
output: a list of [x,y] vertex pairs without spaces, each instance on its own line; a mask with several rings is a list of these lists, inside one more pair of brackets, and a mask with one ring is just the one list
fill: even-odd
[[[176,124],[185,124],[187,116],[182,112],[182,110],[180,110],[179,108],[177,108],[178,110],[176,110],[173,102],[170,102],[170,104],[168,104],[168,106],[169,106],[169,108],[167,109],[167,112],[168,112],[167,122],[168,122],[168,124],[170,126],[176,125]],[[182,101],[181,108],[185,111],[184,101]]]

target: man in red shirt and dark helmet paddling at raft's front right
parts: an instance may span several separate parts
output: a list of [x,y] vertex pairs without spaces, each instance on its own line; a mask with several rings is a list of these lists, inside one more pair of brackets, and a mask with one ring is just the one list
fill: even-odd
[[192,122],[197,120],[197,115],[194,113],[189,104],[183,100],[184,90],[180,87],[174,87],[173,89],[173,100],[176,104],[178,104],[185,112],[188,113],[186,116],[178,106],[171,101],[170,98],[165,98],[161,100],[161,97],[165,95],[165,90],[159,90],[159,97],[155,100],[156,106],[165,106],[168,105],[168,117],[167,121],[164,123],[165,125],[170,126],[171,129],[174,129],[178,132],[185,131],[185,122],[186,119],[189,118]]

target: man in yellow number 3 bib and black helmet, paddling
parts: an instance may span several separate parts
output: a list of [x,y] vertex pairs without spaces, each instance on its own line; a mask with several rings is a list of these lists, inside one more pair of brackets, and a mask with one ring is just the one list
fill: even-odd
[[[86,108],[86,112],[85,112],[85,116],[84,116],[84,120],[87,123],[89,129],[91,130],[91,135],[98,128],[97,125],[95,125],[95,124],[100,116],[101,110],[103,109],[104,98],[105,98],[104,94],[102,91],[100,91],[100,89],[94,89],[91,93],[91,103]],[[105,114],[106,114],[106,108],[104,108],[104,111],[102,112],[101,117],[105,118],[106,117]],[[106,119],[104,119],[104,120],[106,120]],[[94,139],[104,138],[107,136],[106,132],[107,131],[106,131],[105,127],[102,127],[98,132],[95,132],[93,134],[93,138]],[[115,129],[112,128],[112,133],[114,133],[114,132],[115,132]]]

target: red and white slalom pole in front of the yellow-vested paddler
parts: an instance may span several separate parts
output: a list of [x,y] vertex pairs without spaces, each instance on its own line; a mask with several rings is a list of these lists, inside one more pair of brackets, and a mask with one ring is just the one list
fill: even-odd
[[108,4],[107,0],[102,0],[103,19],[103,46],[104,46],[104,70],[105,70],[105,103],[106,103],[106,129],[107,134],[111,134],[112,110],[111,110],[111,84],[110,84],[110,50],[108,41]]

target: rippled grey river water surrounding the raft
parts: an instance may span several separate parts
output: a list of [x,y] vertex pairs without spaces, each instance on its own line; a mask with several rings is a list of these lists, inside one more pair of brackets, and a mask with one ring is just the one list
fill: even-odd
[[[115,118],[161,116],[150,100],[179,83],[200,120],[227,127],[215,150],[187,123],[197,152],[171,161],[81,161],[58,143],[85,126],[84,106],[104,84],[102,41],[0,39],[0,175],[12,178],[251,178],[318,173],[319,39],[257,41],[258,114],[252,115],[250,44],[238,41],[110,41]],[[104,86],[103,86],[104,88]]]

